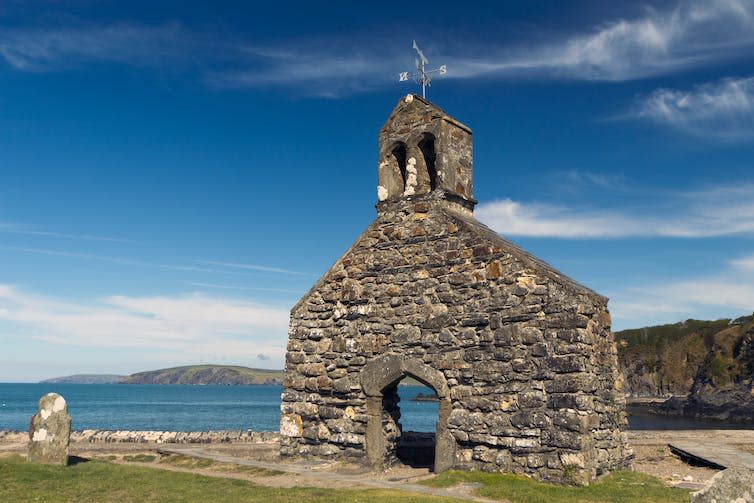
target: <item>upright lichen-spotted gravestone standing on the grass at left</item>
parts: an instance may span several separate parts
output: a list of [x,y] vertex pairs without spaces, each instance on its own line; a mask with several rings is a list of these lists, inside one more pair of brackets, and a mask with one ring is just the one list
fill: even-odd
[[67,464],[70,438],[71,416],[65,398],[47,393],[39,399],[39,411],[29,423],[29,461]]

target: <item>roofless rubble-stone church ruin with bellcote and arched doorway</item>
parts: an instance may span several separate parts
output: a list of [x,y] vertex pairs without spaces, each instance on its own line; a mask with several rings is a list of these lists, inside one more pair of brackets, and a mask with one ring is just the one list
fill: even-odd
[[281,455],[396,462],[411,376],[436,472],[629,466],[607,299],[474,219],[468,127],[408,95],[379,141],[376,219],[291,311]]

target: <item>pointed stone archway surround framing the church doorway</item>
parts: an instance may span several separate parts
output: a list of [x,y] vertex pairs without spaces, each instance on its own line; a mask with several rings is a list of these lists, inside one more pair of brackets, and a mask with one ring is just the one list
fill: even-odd
[[434,471],[443,472],[455,464],[456,441],[448,430],[452,410],[450,391],[439,370],[402,355],[383,355],[367,363],[361,371],[361,389],[367,396],[366,450],[369,463],[377,469],[385,466],[388,445],[382,425],[383,391],[405,376],[411,376],[432,388],[440,399],[435,428]]

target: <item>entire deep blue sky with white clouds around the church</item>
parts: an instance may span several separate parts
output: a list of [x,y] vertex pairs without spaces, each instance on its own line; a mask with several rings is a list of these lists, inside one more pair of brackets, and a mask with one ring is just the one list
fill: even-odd
[[476,216],[615,329],[754,310],[754,1],[0,4],[0,382],[281,368],[412,39]]

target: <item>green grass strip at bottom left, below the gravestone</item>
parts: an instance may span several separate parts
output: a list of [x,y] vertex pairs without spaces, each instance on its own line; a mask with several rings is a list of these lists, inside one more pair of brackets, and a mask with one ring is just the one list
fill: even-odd
[[20,456],[0,458],[3,502],[384,502],[452,501],[380,489],[274,488],[246,480],[88,461],[73,466],[32,464]]

